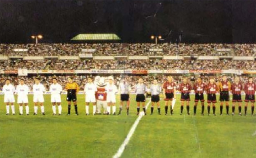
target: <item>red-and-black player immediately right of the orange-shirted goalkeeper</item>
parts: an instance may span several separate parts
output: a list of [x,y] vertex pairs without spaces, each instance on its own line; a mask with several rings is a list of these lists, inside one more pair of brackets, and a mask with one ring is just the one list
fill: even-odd
[[232,115],[235,114],[235,104],[238,104],[239,115],[241,115],[242,111],[242,97],[241,90],[243,89],[242,83],[240,82],[239,77],[235,77],[235,82],[231,86],[233,100],[232,100]]

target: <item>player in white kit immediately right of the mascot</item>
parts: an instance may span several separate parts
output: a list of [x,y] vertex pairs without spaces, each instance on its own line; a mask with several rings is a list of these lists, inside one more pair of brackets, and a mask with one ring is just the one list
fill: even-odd
[[110,114],[110,106],[112,105],[112,112],[113,115],[116,115],[116,93],[117,93],[117,87],[113,83],[113,77],[108,78],[109,84],[106,86],[106,93],[107,93],[107,114]]

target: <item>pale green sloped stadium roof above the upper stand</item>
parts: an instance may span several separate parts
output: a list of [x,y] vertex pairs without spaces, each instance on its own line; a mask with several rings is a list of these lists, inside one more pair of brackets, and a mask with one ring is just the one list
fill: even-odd
[[89,33],[78,34],[71,39],[72,41],[101,41],[101,40],[120,40],[114,33]]

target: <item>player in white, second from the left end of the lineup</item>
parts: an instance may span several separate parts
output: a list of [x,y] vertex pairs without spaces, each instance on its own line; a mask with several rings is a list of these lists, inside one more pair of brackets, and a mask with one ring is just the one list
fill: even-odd
[[16,92],[18,94],[18,101],[17,103],[20,105],[19,110],[20,110],[20,115],[23,115],[23,103],[26,108],[26,115],[29,115],[29,100],[27,98],[27,94],[29,93],[29,87],[24,84],[24,79],[20,80],[20,84],[17,85],[16,87]]

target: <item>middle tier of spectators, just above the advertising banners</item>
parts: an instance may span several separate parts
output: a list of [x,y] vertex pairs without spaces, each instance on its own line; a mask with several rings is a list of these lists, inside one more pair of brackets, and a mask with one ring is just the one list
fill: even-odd
[[0,70],[256,70],[247,60],[6,60]]

